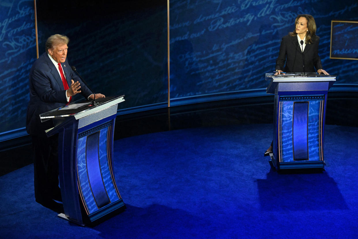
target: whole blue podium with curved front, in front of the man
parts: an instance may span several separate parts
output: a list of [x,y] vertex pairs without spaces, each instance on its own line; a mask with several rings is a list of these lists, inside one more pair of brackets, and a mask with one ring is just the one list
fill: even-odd
[[96,225],[125,210],[113,174],[113,133],[117,106],[124,96],[70,104],[40,115],[58,133],[59,182],[64,213],[79,225]]

